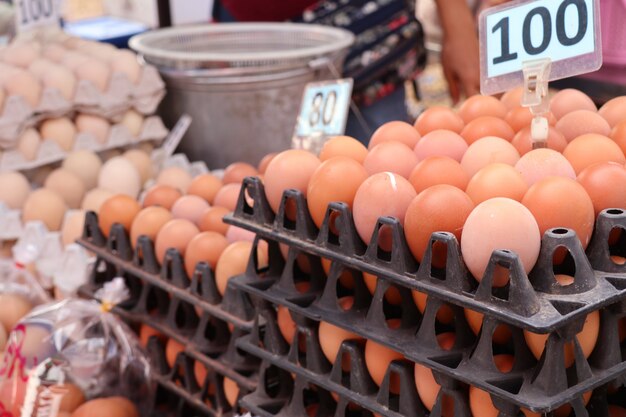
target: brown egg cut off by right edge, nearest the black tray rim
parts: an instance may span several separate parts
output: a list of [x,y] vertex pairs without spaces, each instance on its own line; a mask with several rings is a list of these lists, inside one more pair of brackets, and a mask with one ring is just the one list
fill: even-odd
[[593,203],[595,216],[607,208],[626,209],[626,168],[601,162],[585,168],[577,178]]

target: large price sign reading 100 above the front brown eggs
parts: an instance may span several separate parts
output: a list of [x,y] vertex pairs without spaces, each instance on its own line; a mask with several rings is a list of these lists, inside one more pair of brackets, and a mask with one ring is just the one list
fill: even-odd
[[523,84],[525,63],[549,59],[548,81],[602,65],[599,0],[518,0],[480,16],[481,92]]

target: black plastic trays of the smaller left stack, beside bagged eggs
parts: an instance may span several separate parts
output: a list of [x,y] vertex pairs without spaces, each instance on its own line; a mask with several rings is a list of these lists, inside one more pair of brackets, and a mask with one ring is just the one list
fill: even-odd
[[[148,339],[158,385],[153,414],[237,414],[240,410],[227,399],[224,378],[236,383],[240,397],[255,389],[259,368],[256,357],[235,346],[252,329],[254,309],[247,297],[231,284],[221,296],[207,263],[198,263],[194,275],[188,277],[176,249],[169,249],[159,266],[153,242],[141,236],[133,250],[119,224],[105,238],[94,212],[87,213],[78,243],[96,256],[89,282],[79,290],[82,296],[93,298],[105,282],[124,277],[131,298],[113,312],[133,328],[149,326],[184,346],[170,366],[166,343],[157,336]],[[195,376],[197,362],[207,370],[202,384]]]

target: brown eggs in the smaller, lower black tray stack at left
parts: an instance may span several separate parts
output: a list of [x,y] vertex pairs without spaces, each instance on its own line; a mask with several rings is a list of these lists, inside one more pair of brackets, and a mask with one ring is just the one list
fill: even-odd
[[[262,175],[246,163],[228,166],[222,178],[212,174],[192,177],[187,171],[166,168],[159,173],[155,184],[143,195],[142,201],[126,194],[116,194],[106,199],[97,210],[99,227],[108,237],[111,227],[120,224],[136,247],[140,236],[154,242],[160,265],[165,262],[168,249],[176,249],[184,260],[185,272],[191,277],[199,262],[206,262],[213,271],[217,291],[226,293],[230,278],[242,274],[248,264],[254,234],[229,226],[223,217],[235,209],[241,183],[245,177]],[[267,263],[267,248],[257,253],[259,262]],[[231,328],[232,330],[232,328]],[[151,336],[165,342],[166,360],[173,367],[185,346],[167,339],[156,329],[142,325],[139,329],[142,344]],[[207,369],[200,361],[194,365],[195,378],[200,387],[207,377]],[[231,405],[235,405],[239,388],[224,377],[224,392]]]

